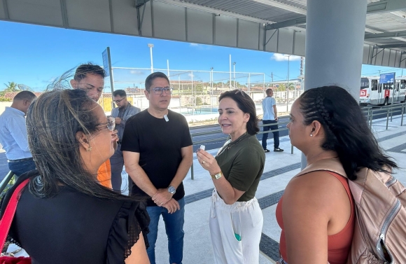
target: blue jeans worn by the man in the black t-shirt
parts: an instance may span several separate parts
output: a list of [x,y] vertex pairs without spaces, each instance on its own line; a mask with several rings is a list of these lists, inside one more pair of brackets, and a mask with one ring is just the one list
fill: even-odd
[[185,198],[178,201],[180,210],[176,210],[173,214],[169,214],[165,207],[146,207],[151,222],[149,223],[147,249],[148,258],[151,264],[155,264],[155,242],[158,237],[158,222],[160,215],[165,221],[165,230],[168,236],[168,251],[169,263],[182,264],[183,258],[183,223],[185,223]]

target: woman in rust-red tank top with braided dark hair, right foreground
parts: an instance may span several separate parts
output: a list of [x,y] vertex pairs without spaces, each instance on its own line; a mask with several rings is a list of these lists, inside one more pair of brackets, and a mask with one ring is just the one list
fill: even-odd
[[358,102],[343,88],[305,91],[293,103],[287,127],[307,168],[290,180],[276,207],[281,263],[344,264],[355,224],[344,176],[355,180],[363,167],[386,172],[397,165],[381,151]]

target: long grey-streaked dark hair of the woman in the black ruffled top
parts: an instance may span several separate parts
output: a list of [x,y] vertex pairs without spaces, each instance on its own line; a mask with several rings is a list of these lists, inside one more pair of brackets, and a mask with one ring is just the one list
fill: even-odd
[[83,132],[91,138],[99,132],[95,107],[97,103],[80,89],[44,92],[31,104],[27,133],[39,173],[29,182],[29,191],[34,196],[52,197],[62,183],[93,197],[139,200],[102,186],[97,175],[85,169],[76,133]]

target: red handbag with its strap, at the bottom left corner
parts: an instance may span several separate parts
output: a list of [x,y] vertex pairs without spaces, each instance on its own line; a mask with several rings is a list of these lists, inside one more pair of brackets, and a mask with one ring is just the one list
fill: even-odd
[[[13,195],[11,195],[10,201],[7,204],[6,210],[4,211],[3,217],[0,220],[0,251],[3,251],[8,231],[10,230],[11,223],[13,223],[13,218],[15,210],[17,209],[18,200],[20,199],[21,190],[27,185],[28,181],[29,179],[26,179],[25,181],[20,183],[17,188],[15,188],[14,193]],[[31,258],[0,256],[0,264],[31,264]]]

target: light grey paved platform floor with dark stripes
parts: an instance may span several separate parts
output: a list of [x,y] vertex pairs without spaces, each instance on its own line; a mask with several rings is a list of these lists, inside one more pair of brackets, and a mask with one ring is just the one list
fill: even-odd
[[[406,118],[405,118],[406,121]],[[386,130],[386,119],[374,120],[372,131],[388,155],[391,155],[400,169],[395,176],[406,185],[406,122],[400,126],[400,117],[393,118]],[[269,149],[273,141],[268,140]],[[265,170],[258,186],[256,197],[264,216],[262,238],[260,243],[260,263],[275,263],[279,249],[280,228],[276,223],[275,209],[279,197],[290,179],[300,172],[301,153],[296,148],[290,153],[288,137],[281,138],[282,153],[266,153]],[[217,150],[211,151],[216,153]],[[195,155],[195,154],[194,154]],[[213,251],[209,234],[210,195],[214,187],[209,173],[202,169],[196,158],[193,163],[195,179],[191,179],[189,171],[183,181],[186,191],[185,216],[185,245],[183,250],[183,263],[206,264],[213,263]],[[127,187],[127,174],[123,172],[123,190]],[[159,223],[158,241],[155,248],[156,262],[169,263],[167,253],[167,237],[164,222]]]

